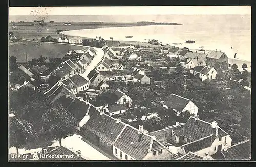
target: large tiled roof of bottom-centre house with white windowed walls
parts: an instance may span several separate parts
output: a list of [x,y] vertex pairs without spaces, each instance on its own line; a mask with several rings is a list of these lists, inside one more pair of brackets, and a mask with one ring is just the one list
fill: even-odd
[[[152,136],[145,133],[138,133],[138,129],[135,129],[131,126],[125,127],[113,146],[119,148],[136,160],[144,159],[148,154],[148,151],[150,151],[152,148],[154,148],[154,150],[164,148],[164,146],[160,143],[152,141]],[[151,141],[154,144],[154,147],[152,144],[152,148],[150,148]]]

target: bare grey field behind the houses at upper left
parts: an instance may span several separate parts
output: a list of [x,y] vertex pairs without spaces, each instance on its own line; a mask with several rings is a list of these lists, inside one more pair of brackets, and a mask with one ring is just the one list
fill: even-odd
[[84,47],[74,45],[63,45],[59,43],[43,43],[43,42],[17,42],[9,46],[9,56],[15,56],[17,62],[26,62],[27,59],[32,60],[40,55],[44,57],[62,58],[70,49],[79,50]]

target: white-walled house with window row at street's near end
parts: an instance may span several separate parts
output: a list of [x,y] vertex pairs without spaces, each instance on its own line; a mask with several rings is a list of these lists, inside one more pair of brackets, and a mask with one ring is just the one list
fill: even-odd
[[89,88],[89,81],[84,79],[79,74],[73,75],[66,80],[62,81],[62,84],[70,88],[74,93],[85,91]]

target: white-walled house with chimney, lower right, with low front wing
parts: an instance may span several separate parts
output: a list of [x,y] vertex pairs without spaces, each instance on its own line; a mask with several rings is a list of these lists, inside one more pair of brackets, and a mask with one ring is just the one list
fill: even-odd
[[190,117],[176,137],[179,140],[177,143],[184,143],[178,149],[178,153],[183,155],[191,151],[199,156],[205,153],[211,156],[223,147],[230,147],[232,142],[229,134],[216,121],[209,123],[198,117]]

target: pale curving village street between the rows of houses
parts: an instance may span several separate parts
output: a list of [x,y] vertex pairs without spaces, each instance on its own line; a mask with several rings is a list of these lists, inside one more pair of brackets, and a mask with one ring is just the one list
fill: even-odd
[[94,56],[91,63],[86,67],[86,71],[80,74],[84,78],[88,76],[88,74],[93,70],[93,68],[96,67],[104,57],[104,51],[101,48],[94,47],[94,49],[96,50],[96,55]]

